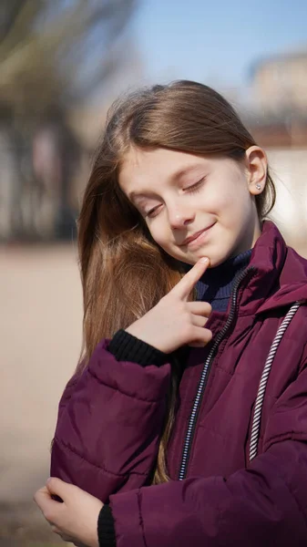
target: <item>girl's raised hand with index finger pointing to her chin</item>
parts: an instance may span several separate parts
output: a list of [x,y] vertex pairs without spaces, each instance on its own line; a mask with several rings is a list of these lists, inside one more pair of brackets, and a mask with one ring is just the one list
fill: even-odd
[[206,302],[189,302],[189,295],[208,265],[208,258],[200,258],[169,294],[126,331],[164,353],[186,344],[206,346],[212,338],[210,330],[204,328],[211,306]]

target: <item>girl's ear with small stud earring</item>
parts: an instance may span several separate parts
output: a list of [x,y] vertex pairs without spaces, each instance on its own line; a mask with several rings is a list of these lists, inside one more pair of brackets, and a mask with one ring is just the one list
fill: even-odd
[[248,172],[249,191],[257,196],[264,190],[267,178],[268,160],[264,150],[251,146],[245,152],[245,164]]

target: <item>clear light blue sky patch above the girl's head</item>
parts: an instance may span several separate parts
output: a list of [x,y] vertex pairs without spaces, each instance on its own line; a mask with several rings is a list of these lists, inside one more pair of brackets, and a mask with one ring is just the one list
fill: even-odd
[[307,50],[307,1],[139,0],[132,35],[146,83],[248,86],[260,59]]

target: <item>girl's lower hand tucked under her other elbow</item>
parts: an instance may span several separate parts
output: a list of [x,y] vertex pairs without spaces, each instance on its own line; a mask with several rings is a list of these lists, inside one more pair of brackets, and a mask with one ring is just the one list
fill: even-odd
[[[52,499],[56,495],[60,501]],[[98,547],[97,521],[103,503],[86,491],[60,479],[49,479],[34,497],[53,532],[65,542]]]

